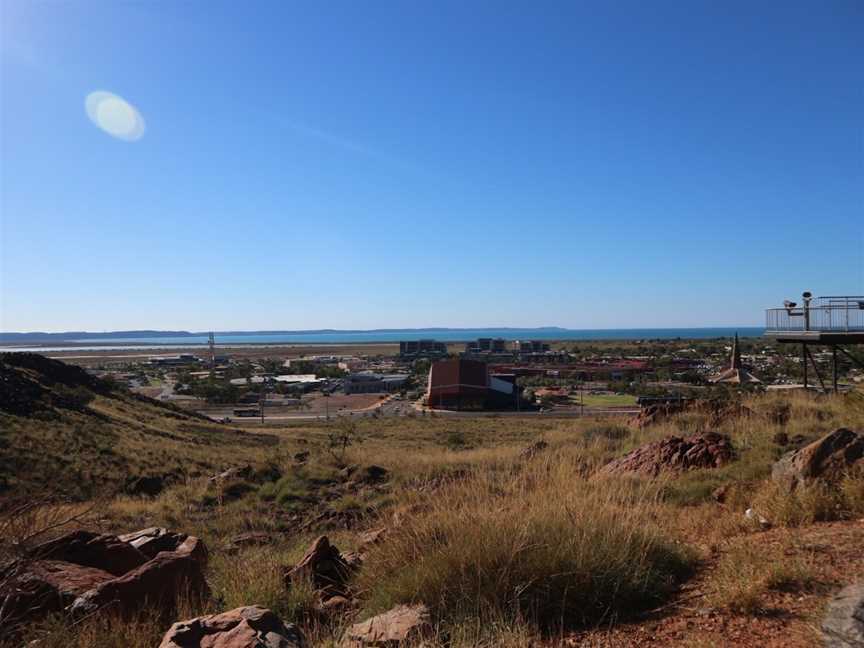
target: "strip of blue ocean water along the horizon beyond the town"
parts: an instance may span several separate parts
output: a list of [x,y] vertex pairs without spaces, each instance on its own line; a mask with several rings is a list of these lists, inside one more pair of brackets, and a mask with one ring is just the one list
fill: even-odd
[[[709,327],[709,328],[640,328],[640,329],[393,329],[386,331],[324,331],[324,332],[290,332],[248,334],[248,333],[217,333],[218,346],[236,344],[354,344],[362,342],[401,342],[403,340],[434,339],[440,342],[462,342],[480,337],[504,338],[505,340],[674,340],[674,339],[708,339],[731,337],[738,333],[741,337],[761,336],[763,327]],[[62,345],[74,346],[44,346],[35,347],[33,342],[21,345],[0,346],[0,351],[52,350],[62,351],[78,349],[86,346],[91,348],[129,350],[171,348],[177,346],[206,345],[206,335],[188,335],[175,337],[106,337],[87,338],[80,340],[63,340]],[[26,344],[26,348],[25,348]],[[50,344],[47,343],[47,344]]]

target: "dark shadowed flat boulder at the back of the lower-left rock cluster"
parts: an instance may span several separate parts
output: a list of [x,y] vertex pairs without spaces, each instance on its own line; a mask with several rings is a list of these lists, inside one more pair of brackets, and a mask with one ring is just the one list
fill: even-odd
[[114,576],[122,576],[140,567],[147,562],[148,558],[117,536],[93,533],[83,529],[43,542],[28,554],[35,560],[75,563],[83,567],[101,569]]

